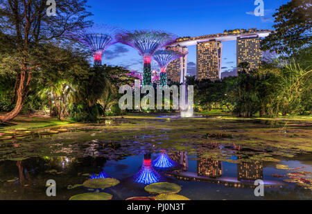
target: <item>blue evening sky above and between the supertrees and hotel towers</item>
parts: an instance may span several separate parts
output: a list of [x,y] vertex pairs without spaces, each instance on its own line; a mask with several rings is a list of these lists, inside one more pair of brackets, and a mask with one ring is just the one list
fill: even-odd
[[[155,29],[181,37],[223,33],[235,28],[272,29],[272,14],[288,0],[263,0],[264,17],[253,15],[255,0],[88,0],[96,24],[110,24],[128,30]],[[142,70],[141,57],[135,49],[115,44],[104,53],[103,63]],[[194,72],[196,46],[189,47],[189,71]],[[223,71],[236,67],[236,43],[223,43]],[[157,65],[153,64],[157,69]]]

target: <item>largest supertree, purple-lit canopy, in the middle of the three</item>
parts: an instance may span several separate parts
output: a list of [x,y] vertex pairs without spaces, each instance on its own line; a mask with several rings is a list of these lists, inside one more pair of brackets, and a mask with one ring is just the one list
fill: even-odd
[[152,73],[150,62],[154,53],[160,48],[175,42],[176,35],[164,33],[155,30],[135,30],[133,32],[124,32],[117,35],[117,39],[122,44],[132,46],[139,51],[139,55],[143,57],[144,73],[143,85],[152,84]]

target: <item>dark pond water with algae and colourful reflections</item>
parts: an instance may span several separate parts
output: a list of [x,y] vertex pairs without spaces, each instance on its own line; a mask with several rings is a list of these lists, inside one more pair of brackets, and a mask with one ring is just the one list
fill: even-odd
[[[144,187],[161,181],[180,185],[179,195],[193,200],[312,199],[312,154],[303,149],[311,146],[310,127],[129,117],[69,125],[58,134],[49,131],[61,127],[36,130],[0,141],[0,199],[67,200],[94,191],[76,184],[105,177],[120,181],[100,190],[114,200],[151,196]],[[296,146],[287,146],[286,138]],[[46,196],[49,179],[56,181],[56,197]],[[264,197],[254,195],[258,179]]]

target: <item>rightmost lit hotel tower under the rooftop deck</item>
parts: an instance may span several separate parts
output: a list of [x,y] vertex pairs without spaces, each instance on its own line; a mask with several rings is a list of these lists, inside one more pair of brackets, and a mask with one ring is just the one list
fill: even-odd
[[239,64],[248,62],[247,71],[259,68],[262,59],[260,50],[260,38],[258,35],[238,37],[236,43],[237,71],[242,71]]

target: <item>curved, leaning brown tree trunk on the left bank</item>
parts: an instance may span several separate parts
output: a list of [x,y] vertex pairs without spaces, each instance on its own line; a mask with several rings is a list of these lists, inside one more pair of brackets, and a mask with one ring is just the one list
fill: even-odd
[[15,108],[11,112],[4,114],[3,116],[0,116],[1,123],[12,120],[21,112],[21,109],[24,106],[26,94],[28,93],[28,84],[31,82],[31,73],[28,73],[26,84],[25,80],[26,80],[26,69],[23,69],[23,71],[21,71],[19,88],[17,89],[17,102]]

